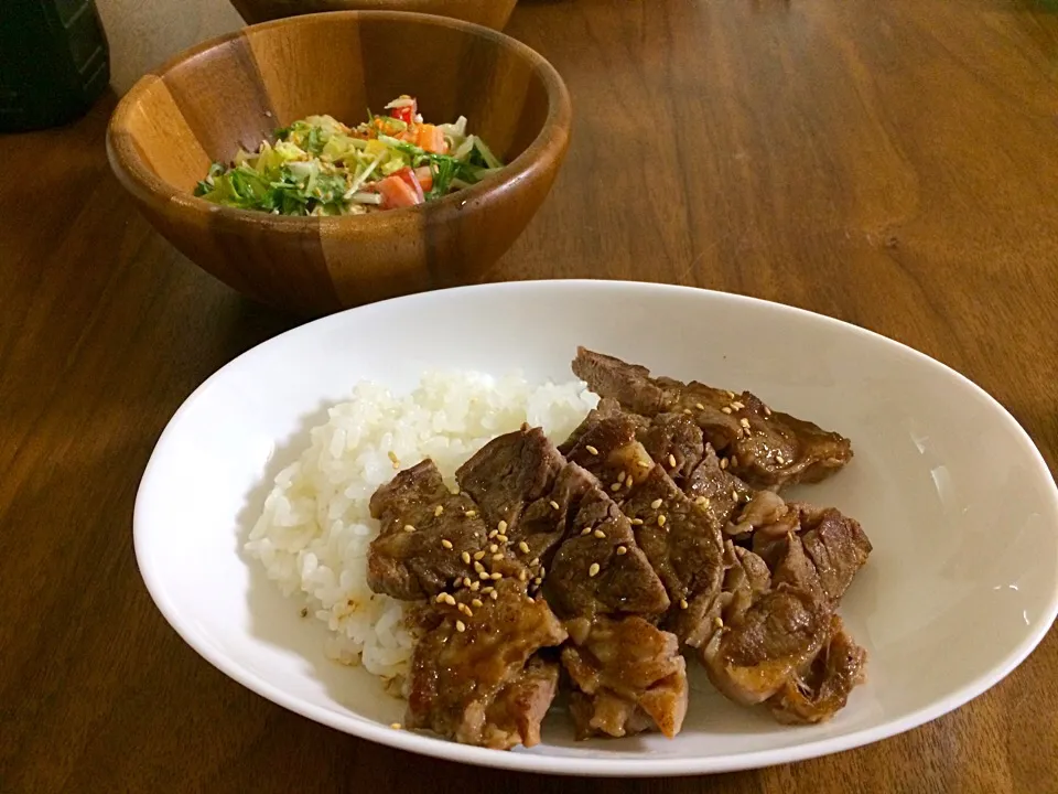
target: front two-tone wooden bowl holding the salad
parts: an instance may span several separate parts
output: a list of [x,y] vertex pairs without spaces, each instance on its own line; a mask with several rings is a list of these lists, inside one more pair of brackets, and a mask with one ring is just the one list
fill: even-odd
[[[413,57],[409,57],[413,53]],[[411,94],[460,115],[507,163],[438,201],[342,217],[219,206],[192,194],[214,161],[299,118],[356,124]],[[144,76],[107,132],[110,164],[154,227],[234,289],[302,314],[479,280],[540,207],[572,120],[558,72],[528,46],[440,17],[335,11],[247,28]]]

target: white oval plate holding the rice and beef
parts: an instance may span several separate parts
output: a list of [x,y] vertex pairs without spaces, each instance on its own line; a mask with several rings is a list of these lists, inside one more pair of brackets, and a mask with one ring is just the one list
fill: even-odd
[[[830,723],[776,725],[693,682],[683,732],[576,743],[564,720],[529,751],[463,747],[388,726],[402,704],[323,655],[323,630],[240,555],[301,433],[360,379],[413,386],[425,368],[572,377],[577,344],[658,374],[755,391],[853,440],[855,459],[801,490],[857,517],[874,554],[842,602],[868,682]],[[920,353],[773,303],[677,287],[537,281],[431,292],[336,314],[266,342],[176,412],[136,503],[151,596],[205,658],[338,730],[450,760],[590,775],[765,766],[890,737],[996,684],[1058,612],[1058,491],[989,395]]]

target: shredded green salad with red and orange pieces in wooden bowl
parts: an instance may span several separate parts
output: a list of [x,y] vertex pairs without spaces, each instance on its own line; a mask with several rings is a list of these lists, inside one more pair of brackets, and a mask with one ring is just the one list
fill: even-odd
[[433,201],[503,168],[485,142],[454,124],[422,120],[412,97],[347,127],[309,116],[230,165],[214,163],[195,195],[274,215],[361,215]]

